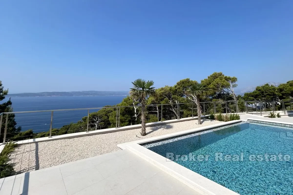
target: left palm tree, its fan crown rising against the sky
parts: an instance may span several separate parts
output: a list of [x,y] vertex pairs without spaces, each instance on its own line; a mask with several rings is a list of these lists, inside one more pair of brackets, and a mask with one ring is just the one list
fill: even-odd
[[133,99],[139,99],[140,105],[142,106],[142,132],[140,133],[142,136],[147,135],[146,133],[146,98],[149,96],[154,96],[156,91],[154,87],[154,81],[146,81],[142,79],[137,79],[132,82],[133,88],[130,88],[130,97]]

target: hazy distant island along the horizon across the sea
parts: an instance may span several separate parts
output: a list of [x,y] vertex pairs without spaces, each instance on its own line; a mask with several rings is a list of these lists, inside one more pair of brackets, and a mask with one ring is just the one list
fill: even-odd
[[8,97],[36,97],[36,96],[126,96],[127,91],[79,91],[79,92],[39,92],[8,94]]

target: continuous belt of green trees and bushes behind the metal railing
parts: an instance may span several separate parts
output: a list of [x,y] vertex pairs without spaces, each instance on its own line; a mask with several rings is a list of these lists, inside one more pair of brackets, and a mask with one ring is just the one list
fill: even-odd
[[[144,81],[142,79],[136,80],[133,82],[134,87],[132,88],[134,91],[131,92],[132,96],[127,96],[122,100],[121,103],[115,106],[137,106],[136,109],[133,107],[120,107],[120,127],[126,125],[135,125],[140,124],[142,122],[142,103],[144,105],[152,105],[145,107],[145,120],[146,122],[155,122],[157,121],[159,116],[159,120],[163,118],[163,120],[170,120],[180,118],[186,118],[192,116],[192,107],[193,107],[193,115],[198,115],[197,106],[196,106],[196,98],[195,94],[200,94],[200,89],[197,90],[198,93],[195,92],[193,88],[197,85],[202,85],[205,89],[209,91],[209,94],[201,93],[199,100],[205,101],[205,113],[203,114],[211,114],[209,118],[214,119],[214,102],[216,106],[216,113],[226,113],[226,103],[227,102],[227,113],[236,112],[236,104],[234,101],[234,95],[232,89],[237,87],[237,78],[236,77],[228,77],[223,73],[215,72],[212,75],[209,75],[206,79],[201,81],[199,84],[195,80],[190,80],[189,78],[178,81],[174,86],[165,86],[159,89],[154,90],[152,87],[152,81]],[[145,85],[142,88],[139,88]],[[237,107],[239,112],[245,112],[246,107],[244,101],[263,101],[263,100],[279,100],[283,99],[289,101],[293,97],[293,80],[288,81],[287,83],[280,84],[279,87],[270,86],[265,84],[263,86],[256,87],[256,89],[251,93],[246,93],[243,97],[237,96]],[[149,87],[146,89],[145,87]],[[141,93],[144,91],[143,93]],[[4,90],[2,84],[0,82],[0,100],[5,98],[5,94],[8,91]],[[154,95],[155,94],[155,95]],[[206,96],[203,96],[203,95]],[[144,98],[139,98],[144,95]],[[138,99],[135,99],[138,98]],[[192,103],[191,103],[192,102]],[[211,102],[211,103],[207,103]],[[180,104],[178,107],[178,103],[187,103]],[[156,104],[173,104],[173,105],[164,105],[162,107],[161,116],[161,106],[156,106]],[[192,106],[193,105],[193,106]],[[266,111],[272,111],[272,105],[270,103],[265,103]],[[282,104],[276,103],[276,110],[282,109]],[[285,107],[287,110],[293,109],[293,104],[290,108],[290,103],[285,103]],[[180,108],[180,109],[179,109]],[[200,110],[203,110],[203,103],[200,103]],[[251,109],[251,108],[248,108]],[[11,101],[8,100],[5,103],[0,104],[0,112],[12,111]],[[252,111],[252,110],[248,110]],[[254,109],[255,111],[255,109]],[[116,127],[116,113],[117,108],[113,108],[113,106],[105,106],[105,108],[100,109],[97,112],[90,113],[89,115],[89,130],[97,129],[106,129]],[[178,116],[179,113],[179,116]],[[5,126],[5,117],[3,116],[2,127]],[[217,116],[218,117],[218,116]],[[95,125],[96,118],[100,119],[98,125]],[[220,116],[221,118],[221,116]],[[239,115],[222,115],[223,121],[229,120],[237,120],[239,119]],[[59,129],[52,129],[52,136],[54,135],[62,135],[67,133],[81,132],[86,131],[87,129],[87,116],[83,117],[81,121],[76,123],[71,123],[69,125],[64,125]],[[8,140],[23,140],[23,139],[32,139],[39,137],[48,137],[49,131],[33,133],[33,130],[27,130],[25,132],[19,132],[21,128],[16,128],[16,122],[14,120],[14,115],[9,115],[8,119]],[[18,133],[19,132],[19,133]],[[1,133],[0,141],[3,139],[3,133]]]

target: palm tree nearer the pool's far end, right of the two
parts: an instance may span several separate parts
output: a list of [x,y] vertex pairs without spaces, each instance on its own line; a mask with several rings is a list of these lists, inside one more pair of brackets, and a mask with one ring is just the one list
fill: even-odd
[[198,124],[201,124],[200,96],[207,96],[211,93],[212,89],[206,88],[201,83],[191,85],[185,92],[186,95],[194,95],[196,97]]

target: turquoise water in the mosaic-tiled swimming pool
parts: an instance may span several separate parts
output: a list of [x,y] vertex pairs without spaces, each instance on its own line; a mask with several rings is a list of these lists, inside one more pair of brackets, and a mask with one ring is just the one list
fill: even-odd
[[293,195],[292,128],[241,122],[143,145],[239,194]]

